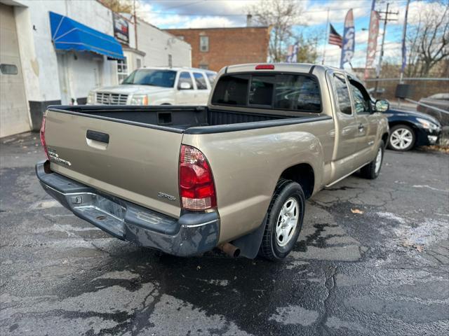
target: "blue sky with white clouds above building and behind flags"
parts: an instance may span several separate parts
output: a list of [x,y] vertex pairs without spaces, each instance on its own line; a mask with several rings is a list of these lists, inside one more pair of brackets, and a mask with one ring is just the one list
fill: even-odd
[[[159,28],[207,28],[207,27],[244,27],[246,15],[251,6],[257,6],[261,0],[140,0],[139,15],[147,22]],[[326,41],[326,20],[343,34],[344,15],[349,9],[354,10],[356,28],[356,52],[352,61],[354,67],[365,66],[368,42],[369,15],[372,0],[292,0],[302,8],[301,17],[297,18],[295,30],[304,35],[319,37],[319,62],[326,48],[326,64],[339,66],[340,48],[328,45]],[[401,36],[403,18],[407,0],[389,0],[389,10],[398,12],[394,16],[398,21],[387,24],[384,59],[389,62],[401,62]],[[376,10],[385,10],[386,0],[376,1]],[[409,22],[420,10],[429,6],[438,6],[431,0],[412,0],[410,2]],[[378,49],[382,38],[383,25],[380,25]]]

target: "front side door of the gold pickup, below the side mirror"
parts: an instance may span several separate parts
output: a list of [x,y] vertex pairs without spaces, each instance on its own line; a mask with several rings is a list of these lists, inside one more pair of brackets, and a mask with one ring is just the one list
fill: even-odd
[[364,163],[369,162],[373,158],[373,146],[377,134],[377,124],[375,116],[372,114],[371,99],[361,83],[355,80],[349,80],[351,95],[353,101],[353,109],[357,120],[356,133],[356,158],[354,163],[360,167]]

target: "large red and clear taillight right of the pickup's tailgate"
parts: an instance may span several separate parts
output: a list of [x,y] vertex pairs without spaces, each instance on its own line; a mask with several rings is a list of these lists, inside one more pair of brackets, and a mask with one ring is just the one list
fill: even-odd
[[206,210],[217,206],[212,170],[198,149],[181,146],[180,197],[182,208]]

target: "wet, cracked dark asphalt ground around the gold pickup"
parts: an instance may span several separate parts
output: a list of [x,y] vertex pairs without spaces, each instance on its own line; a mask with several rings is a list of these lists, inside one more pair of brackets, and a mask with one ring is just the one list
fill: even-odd
[[34,176],[39,134],[2,139],[1,335],[448,335],[449,155],[387,151],[307,203],[283,263],[175,258],[109,237]]

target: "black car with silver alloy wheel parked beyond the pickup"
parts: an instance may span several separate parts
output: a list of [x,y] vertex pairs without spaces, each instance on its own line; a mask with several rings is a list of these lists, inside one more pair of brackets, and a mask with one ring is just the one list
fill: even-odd
[[426,113],[390,107],[384,114],[390,127],[387,146],[393,151],[434,145],[440,137],[441,123]]

